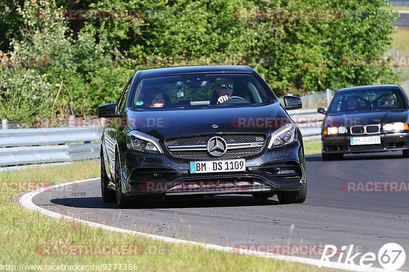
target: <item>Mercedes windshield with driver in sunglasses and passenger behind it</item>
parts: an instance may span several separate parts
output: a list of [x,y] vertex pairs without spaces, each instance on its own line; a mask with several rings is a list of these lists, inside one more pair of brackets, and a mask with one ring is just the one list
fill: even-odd
[[142,79],[134,109],[271,103],[271,94],[252,74],[200,73]]

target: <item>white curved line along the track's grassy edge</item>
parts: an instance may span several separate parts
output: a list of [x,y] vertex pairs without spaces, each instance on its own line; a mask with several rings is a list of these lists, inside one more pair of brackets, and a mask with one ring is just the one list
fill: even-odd
[[[82,182],[89,182],[89,181],[96,181],[99,180],[99,178],[96,179],[88,179],[88,180],[80,180],[80,181],[73,181],[73,182],[66,182],[62,184],[55,184],[52,186],[47,186],[47,190],[59,187],[61,188],[62,186],[67,186],[67,185],[72,185],[76,183],[82,183]],[[217,244],[208,244],[208,243],[201,243],[201,242],[194,242],[194,241],[188,241],[188,240],[181,240],[181,239],[176,239],[176,238],[170,238],[170,237],[165,237],[165,236],[159,236],[159,235],[154,235],[154,234],[148,234],[148,233],[143,233],[143,232],[137,232],[137,231],[131,231],[131,230],[125,230],[125,229],[120,229],[116,227],[111,227],[111,226],[106,226],[102,224],[98,224],[95,222],[90,222],[78,218],[74,218],[71,216],[59,214],[56,212],[52,212],[46,209],[43,209],[37,205],[35,205],[32,201],[33,197],[39,194],[40,192],[46,191],[45,189],[37,189],[35,191],[30,191],[27,192],[23,195],[21,195],[19,199],[19,203],[21,206],[41,212],[42,214],[45,214],[47,216],[53,217],[53,218],[64,218],[66,220],[78,222],[79,224],[83,224],[86,226],[90,227],[96,227],[100,228],[103,230],[108,230],[108,231],[116,231],[116,232],[121,232],[121,233],[129,233],[129,234],[134,234],[134,235],[141,235],[145,237],[149,237],[155,240],[160,240],[164,242],[170,242],[170,243],[180,243],[180,244],[189,244],[189,245],[198,245],[202,246],[205,249],[209,250],[217,250],[217,251],[223,251],[223,252],[229,252],[229,253],[235,253],[237,252],[237,249],[234,250],[230,246],[221,246]],[[265,255],[265,252],[257,252],[257,251],[250,251],[250,250],[241,250],[242,253],[248,253],[248,255],[254,255],[257,257],[264,257],[264,258],[271,258],[271,259],[277,259],[277,260],[283,260],[283,261],[291,261],[291,262],[298,262],[298,263],[303,263],[303,264],[309,264],[313,266],[318,266],[320,264],[320,260],[317,259],[311,259],[311,258],[304,258],[304,257],[296,257],[296,256],[286,256],[286,255]],[[326,263],[323,263],[323,267],[329,267],[329,268],[337,268],[337,269],[344,269],[344,270],[350,270],[350,271],[362,271],[362,272],[370,272],[370,271],[386,271],[385,269],[382,268],[377,268],[377,267],[362,267],[360,265],[353,265],[353,264],[345,264],[341,263],[339,266],[337,266],[336,262],[330,262],[328,265]]]

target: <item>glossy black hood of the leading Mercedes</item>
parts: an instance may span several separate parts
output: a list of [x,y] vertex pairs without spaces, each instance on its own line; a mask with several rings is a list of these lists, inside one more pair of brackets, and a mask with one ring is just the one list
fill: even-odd
[[278,104],[127,111],[127,126],[158,138],[214,133],[264,133],[291,119]]

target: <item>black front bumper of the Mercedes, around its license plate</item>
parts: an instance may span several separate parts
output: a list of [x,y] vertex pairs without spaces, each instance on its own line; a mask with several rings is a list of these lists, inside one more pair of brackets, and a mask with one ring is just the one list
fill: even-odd
[[[121,156],[123,193],[128,197],[162,197],[191,194],[275,194],[299,191],[305,184],[301,143],[266,149],[246,159],[245,171],[190,174],[189,161],[176,162],[164,154],[127,150]],[[193,159],[192,159],[193,160]]]

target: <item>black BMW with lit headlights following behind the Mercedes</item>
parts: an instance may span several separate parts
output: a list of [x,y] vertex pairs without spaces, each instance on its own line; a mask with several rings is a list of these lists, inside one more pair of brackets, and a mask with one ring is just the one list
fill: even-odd
[[323,160],[346,153],[402,151],[409,157],[409,102],[398,85],[340,89],[326,111],[322,126]]

